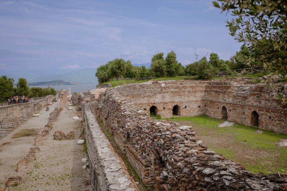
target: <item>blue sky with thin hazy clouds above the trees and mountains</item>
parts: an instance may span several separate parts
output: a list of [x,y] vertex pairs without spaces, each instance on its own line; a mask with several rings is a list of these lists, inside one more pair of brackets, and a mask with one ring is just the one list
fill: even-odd
[[66,73],[174,51],[183,65],[241,44],[211,0],[0,0],[0,75]]

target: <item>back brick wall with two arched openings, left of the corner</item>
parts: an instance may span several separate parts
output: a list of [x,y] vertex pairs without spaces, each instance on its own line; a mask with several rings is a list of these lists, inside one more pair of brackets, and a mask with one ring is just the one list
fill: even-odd
[[142,84],[128,84],[114,89],[123,98],[131,101],[149,113],[150,107],[157,107],[157,114],[163,118],[173,116],[172,109],[179,106],[180,116],[204,114],[204,87],[206,81],[154,81]]

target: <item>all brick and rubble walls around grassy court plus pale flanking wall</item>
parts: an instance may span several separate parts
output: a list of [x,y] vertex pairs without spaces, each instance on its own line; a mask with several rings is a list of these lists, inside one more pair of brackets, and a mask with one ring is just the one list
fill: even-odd
[[[135,190],[123,171],[124,164],[111,169],[113,164],[119,166],[120,159],[105,142],[98,115],[143,183],[156,190],[287,190],[286,174],[253,174],[208,150],[192,127],[150,117],[205,114],[287,134],[287,105],[275,98],[278,92],[271,87],[254,84],[251,78],[228,78],[97,88],[73,95],[85,119],[93,190],[121,190],[123,186],[122,190]],[[286,85],[281,89],[286,94]]]

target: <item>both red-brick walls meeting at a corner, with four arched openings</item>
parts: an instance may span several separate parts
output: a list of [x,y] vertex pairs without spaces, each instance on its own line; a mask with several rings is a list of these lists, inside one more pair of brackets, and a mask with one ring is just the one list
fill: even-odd
[[[244,125],[252,124],[253,111],[259,114],[258,127],[287,134],[287,104],[275,98],[277,91],[267,85],[254,84],[253,78],[217,80],[153,81],[128,84],[114,89],[149,115],[156,106],[162,118],[173,117],[172,108],[180,107],[180,116],[208,115],[222,118],[227,108],[228,120]],[[287,93],[287,84],[283,92]]]

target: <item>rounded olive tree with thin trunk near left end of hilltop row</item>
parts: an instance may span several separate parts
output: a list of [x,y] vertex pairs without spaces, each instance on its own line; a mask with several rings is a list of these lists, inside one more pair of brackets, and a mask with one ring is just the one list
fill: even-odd
[[126,61],[121,58],[116,58],[109,62],[109,76],[115,76],[118,80],[122,78],[126,70]]

